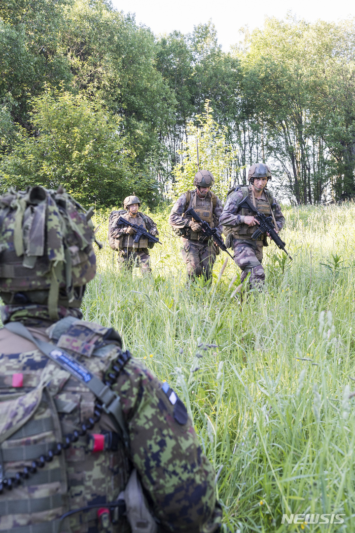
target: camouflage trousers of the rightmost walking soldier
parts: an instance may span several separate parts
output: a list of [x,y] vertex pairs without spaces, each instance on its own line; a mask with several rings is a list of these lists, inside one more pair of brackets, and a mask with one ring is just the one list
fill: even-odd
[[234,261],[242,270],[241,282],[250,272],[249,286],[258,289],[265,282],[262,262],[262,240],[233,239]]

